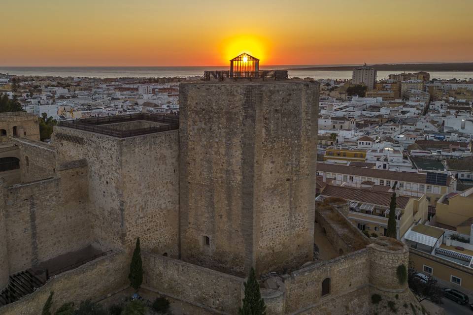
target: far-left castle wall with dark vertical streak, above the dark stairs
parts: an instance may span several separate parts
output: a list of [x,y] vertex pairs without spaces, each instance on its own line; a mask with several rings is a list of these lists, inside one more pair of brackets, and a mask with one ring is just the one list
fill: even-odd
[[3,189],[10,274],[91,243],[87,167],[60,176]]

